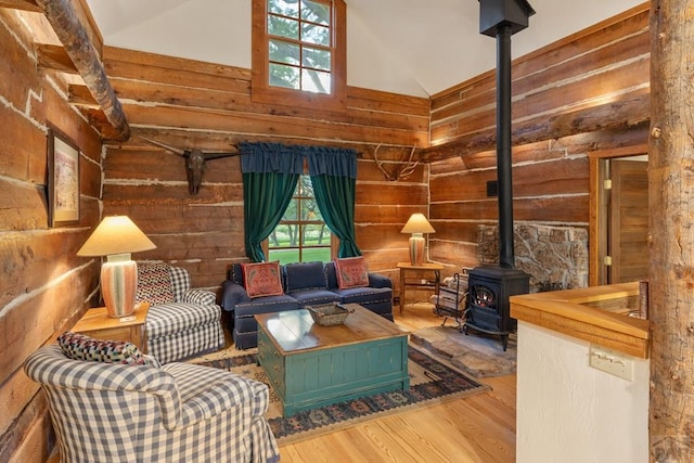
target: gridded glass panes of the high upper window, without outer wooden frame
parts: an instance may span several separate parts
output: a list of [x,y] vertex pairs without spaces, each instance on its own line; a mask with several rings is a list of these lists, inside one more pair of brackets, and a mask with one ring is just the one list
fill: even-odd
[[331,93],[332,1],[268,0],[269,83]]

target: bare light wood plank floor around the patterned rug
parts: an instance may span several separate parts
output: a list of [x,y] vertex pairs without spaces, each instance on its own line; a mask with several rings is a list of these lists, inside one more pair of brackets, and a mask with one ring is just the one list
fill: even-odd
[[[440,322],[427,308],[396,312],[396,323],[410,331]],[[281,461],[515,462],[516,375],[479,381],[492,390],[283,446]]]

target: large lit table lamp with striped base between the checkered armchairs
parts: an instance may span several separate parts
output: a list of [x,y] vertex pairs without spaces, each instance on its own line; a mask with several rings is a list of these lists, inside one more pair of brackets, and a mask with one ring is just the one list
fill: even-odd
[[134,311],[138,265],[130,253],[156,246],[127,216],[105,217],[77,252],[78,256],[106,256],[101,266],[101,294],[108,317],[128,317]]

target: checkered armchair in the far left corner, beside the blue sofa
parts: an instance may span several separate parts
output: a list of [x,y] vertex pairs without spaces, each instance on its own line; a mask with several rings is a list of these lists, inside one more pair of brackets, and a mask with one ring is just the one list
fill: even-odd
[[147,353],[174,362],[224,346],[215,293],[191,288],[188,270],[162,261],[138,262],[138,301],[150,303]]

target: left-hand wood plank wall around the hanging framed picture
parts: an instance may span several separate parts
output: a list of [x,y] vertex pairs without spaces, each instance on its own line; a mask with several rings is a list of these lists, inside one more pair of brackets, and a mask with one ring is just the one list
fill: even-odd
[[[43,395],[22,370],[92,304],[99,262],[77,249],[99,222],[101,140],[66,103],[61,77],[37,69],[36,13],[0,8],[0,461],[41,462],[53,447]],[[40,22],[36,23],[40,26]],[[80,149],[81,215],[49,228],[47,129]]]

